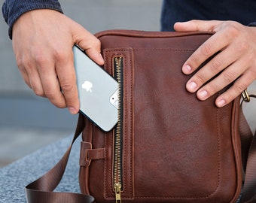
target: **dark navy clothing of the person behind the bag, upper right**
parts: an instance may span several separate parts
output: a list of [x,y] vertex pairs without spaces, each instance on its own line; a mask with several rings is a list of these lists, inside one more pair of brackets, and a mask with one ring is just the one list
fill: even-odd
[[256,22],[256,0],[164,0],[162,31],[187,20],[234,20],[243,25]]

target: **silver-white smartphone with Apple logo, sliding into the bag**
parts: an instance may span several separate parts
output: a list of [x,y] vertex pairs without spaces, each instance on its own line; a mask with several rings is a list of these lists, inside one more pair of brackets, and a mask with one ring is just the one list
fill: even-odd
[[118,120],[118,83],[80,47],[73,47],[80,111],[105,132]]

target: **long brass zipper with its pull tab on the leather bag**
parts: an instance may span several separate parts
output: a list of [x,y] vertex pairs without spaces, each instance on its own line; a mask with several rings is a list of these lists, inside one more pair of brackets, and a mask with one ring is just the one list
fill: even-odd
[[122,191],[122,148],[123,148],[123,138],[122,138],[122,99],[123,99],[123,57],[114,57],[114,76],[118,82],[118,122],[114,131],[114,167],[113,167],[113,189],[115,192],[116,203],[121,202],[121,191]]

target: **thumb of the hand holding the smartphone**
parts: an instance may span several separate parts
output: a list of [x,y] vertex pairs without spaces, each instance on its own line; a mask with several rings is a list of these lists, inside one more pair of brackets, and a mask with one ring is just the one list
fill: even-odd
[[103,65],[104,59],[100,53],[101,44],[99,39],[82,26],[79,25],[79,27],[75,33],[75,44],[78,44],[79,47],[85,50],[90,59],[99,65]]

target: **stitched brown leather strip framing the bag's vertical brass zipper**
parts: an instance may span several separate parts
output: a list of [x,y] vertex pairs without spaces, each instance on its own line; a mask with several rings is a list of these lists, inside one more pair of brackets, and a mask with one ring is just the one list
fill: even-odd
[[118,122],[105,136],[105,200],[120,203],[134,198],[133,179],[133,50],[120,48],[103,52],[105,70],[118,83]]

